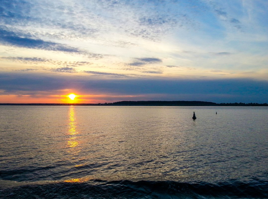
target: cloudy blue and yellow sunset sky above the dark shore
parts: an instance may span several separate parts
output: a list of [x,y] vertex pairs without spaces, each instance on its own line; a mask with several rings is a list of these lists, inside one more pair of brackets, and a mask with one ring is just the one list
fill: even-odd
[[268,103],[267,0],[0,2],[0,103]]

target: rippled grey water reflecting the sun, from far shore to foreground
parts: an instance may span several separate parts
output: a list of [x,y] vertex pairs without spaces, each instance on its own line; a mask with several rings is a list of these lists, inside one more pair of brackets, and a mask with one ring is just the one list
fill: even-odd
[[268,107],[0,112],[0,198],[268,198]]

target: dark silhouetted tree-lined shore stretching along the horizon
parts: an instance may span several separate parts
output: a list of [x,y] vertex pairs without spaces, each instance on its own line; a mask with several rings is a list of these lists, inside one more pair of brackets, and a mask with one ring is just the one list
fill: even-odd
[[0,106],[268,106],[267,103],[214,103],[203,101],[121,101],[113,103],[0,103]]

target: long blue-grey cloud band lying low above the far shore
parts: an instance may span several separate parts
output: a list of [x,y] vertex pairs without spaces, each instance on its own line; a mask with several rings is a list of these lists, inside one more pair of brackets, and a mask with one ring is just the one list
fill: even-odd
[[[96,75],[101,72],[91,72]],[[52,74],[53,75],[53,74]],[[197,86],[198,85],[198,86]],[[212,102],[257,102],[267,103],[268,81],[250,79],[192,80],[192,79],[147,79],[147,78],[88,78],[66,73],[44,76],[41,73],[1,73],[0,89],[10,93],[56,92],[73,89],[93,95],[144,96],[146,100],[202,100]],[[224,97],[228,95],[228,97]],[[153,97],[151,97],[153,96]],[[172,97],[173,96],[173,97]],[[174,97],[175,96],[175,97]],[[188,97],[179,97],[188,96]],[[120,99],[117,99],[120,100]],[[130,99],[131,100],[131,99]],[[132,99],[133,100],[133,99]],[[135,100],[141,100],[136,98]]]

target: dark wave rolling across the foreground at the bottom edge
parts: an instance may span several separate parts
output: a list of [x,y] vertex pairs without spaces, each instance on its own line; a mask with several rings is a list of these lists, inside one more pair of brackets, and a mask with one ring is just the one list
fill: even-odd
[[[6,183],[6,182],[5,182]],[[268,181],[211,184],[176,181],[47,182],[5,187],[0,198],[268,198]]]

